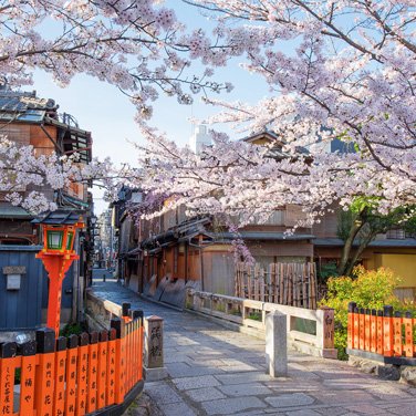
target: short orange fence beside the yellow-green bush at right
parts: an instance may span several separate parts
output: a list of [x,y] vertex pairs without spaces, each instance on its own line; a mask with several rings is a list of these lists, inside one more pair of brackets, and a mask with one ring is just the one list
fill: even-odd
[[393,306],[357,309],[349,304],[347,349],[361,350],[385,357],[416,356],[416,319],[410,312],[405,315],[393,311]]

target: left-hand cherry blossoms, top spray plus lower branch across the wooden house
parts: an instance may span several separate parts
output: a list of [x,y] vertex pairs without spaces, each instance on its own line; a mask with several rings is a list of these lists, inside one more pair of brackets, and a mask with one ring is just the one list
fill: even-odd
[[[152,117],[152,103],[160,93],[189,104],[194,94],[231,87],[211,81],[209,67],[193,74],[193,60],[221,64],[227,54],[201,30],[186,32],[174,10],[154,0],[0,0],[0,51],[1,84],[31,84],[35,69],[62,86],[85,73],[127,94],[139,124]],[[62,189],[69,180],[94,177],[115,195],[121,185],[108,177],[135,175],[125,168],[115,173],[108,160],[83,167],[74,158],[37,158],[31,147],[18,148],[3,136],[0,153],[0,189],[31,211],[54,208],[43,185]],[[18,190],[29,185],[39,190],[23,198]]]

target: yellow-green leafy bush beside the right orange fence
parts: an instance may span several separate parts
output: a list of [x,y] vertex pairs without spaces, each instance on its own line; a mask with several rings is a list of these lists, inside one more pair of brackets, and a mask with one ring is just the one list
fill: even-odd
[[335,312],[335,349],[339,357],[345,358],[346,326],[349,303],[355,302],[357,308],[381,310],[384,305],[402,309],[399,300],[394,295],[394,289],[399,278],[392,270],[379,268],[365,270],[358,266],[353,271],[354,277],[330,278],[327,294],[321,305],[334,309]]

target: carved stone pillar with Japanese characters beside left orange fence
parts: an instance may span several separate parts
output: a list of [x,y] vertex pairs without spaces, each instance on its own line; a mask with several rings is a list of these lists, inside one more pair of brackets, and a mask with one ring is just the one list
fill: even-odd
[[144,375],[148,382],[163,379],[167,376],[164,366],[164,320],[152,315],[145,318],[145,358]]

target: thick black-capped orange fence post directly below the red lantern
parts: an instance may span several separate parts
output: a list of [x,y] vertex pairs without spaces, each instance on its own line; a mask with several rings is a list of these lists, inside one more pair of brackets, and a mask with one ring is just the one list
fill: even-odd
[[45,327],[37,331],[39,366],[35,374],[34,408],[37,415],[53,415],[55,372],[55,331]]

